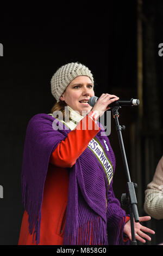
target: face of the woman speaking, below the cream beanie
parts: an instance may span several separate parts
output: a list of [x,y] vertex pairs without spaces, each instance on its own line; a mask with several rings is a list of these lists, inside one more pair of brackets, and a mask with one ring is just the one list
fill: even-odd
[[85,114],[91,111],[92,106],[87,102],[92,96],[95,96],[92,81],[88,76],[82,75],[71,81],[60,99],[82,115],[82,111],[86,111]]

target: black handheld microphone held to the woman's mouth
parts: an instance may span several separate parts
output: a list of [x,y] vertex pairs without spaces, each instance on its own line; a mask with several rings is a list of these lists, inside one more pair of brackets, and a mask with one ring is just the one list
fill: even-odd
[[[93,96],[89,99],[90,106],[94,106],[98,100],[98,97]],[[139,99],[130,99],[130,100],[116,100],[115,102],[110,103],[108,106],[113,108],[114,106],[137,106],[140,104]]]

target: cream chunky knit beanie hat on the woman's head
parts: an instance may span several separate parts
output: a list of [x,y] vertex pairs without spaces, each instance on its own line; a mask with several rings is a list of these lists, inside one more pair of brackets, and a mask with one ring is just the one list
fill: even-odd
[[68,63],[60,67],[57,72],[55,72],[51,79],[51,91],[57,102],[59,102],[62,93],[70,82],[80,75],[89,76],[93,84],[93,75],[91,71],[79,62]]

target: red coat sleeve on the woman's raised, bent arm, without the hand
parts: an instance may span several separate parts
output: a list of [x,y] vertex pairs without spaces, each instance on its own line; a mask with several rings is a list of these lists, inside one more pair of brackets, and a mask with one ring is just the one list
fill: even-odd
[[77,124],[76,129],[68,133],[67,138],[55,148],[51,154],[50,163],[62,168],[73,166],[99,130],[96,122],[90,116],[85,116]]

